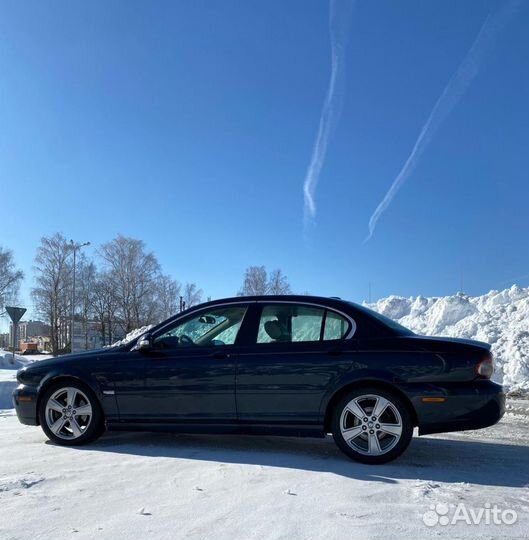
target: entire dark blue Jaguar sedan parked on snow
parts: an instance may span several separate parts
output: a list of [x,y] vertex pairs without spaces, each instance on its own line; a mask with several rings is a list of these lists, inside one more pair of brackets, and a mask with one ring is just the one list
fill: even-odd
[[121,346],[17,375],[19,420],[61,445],[108,430],[324,437],[383,463],[419,435],[502,417],[490,346],[419,336],[363,306],[311,296],[191,308]]

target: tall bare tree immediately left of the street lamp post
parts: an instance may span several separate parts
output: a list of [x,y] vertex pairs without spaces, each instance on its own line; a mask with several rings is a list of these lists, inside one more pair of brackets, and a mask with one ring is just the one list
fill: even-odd
[[71,247],[62,234],[43,237],[35,257],[32,297],[35,310],[50,325],[51,349],[58,354],[67,340],[71,303]]

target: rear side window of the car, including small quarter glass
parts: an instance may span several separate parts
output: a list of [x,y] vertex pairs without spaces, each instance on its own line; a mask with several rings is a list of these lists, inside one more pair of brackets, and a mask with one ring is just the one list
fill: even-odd
[[350,323],[325,308],[295,304],[264,306],[257,343],[343,339]]

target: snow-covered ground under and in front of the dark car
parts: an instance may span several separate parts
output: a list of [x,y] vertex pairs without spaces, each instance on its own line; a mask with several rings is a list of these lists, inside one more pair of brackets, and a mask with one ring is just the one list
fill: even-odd
[[[4,412],[0,538],[527,538],[528,428],[513,401],[492,428],[414,438],[368,466],[330,439],[114,433],[64,448]],[[516,522],[451,524],[495,506]]]

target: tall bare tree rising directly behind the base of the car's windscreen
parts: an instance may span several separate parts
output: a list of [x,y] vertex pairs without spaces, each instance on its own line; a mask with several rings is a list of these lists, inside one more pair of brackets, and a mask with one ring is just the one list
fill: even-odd
[[123,329],[130,332],[156,319],[160,265],[145,243],[118,235],[100,251],[118,305]]

